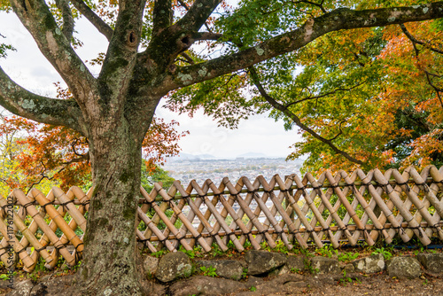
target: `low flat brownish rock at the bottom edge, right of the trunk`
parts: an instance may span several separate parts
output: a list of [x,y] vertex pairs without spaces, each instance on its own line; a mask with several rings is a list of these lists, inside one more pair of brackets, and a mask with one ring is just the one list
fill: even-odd
[[169,295],[221,295],[246,289],[245,283],[218,277],[190,277],[169,287]]

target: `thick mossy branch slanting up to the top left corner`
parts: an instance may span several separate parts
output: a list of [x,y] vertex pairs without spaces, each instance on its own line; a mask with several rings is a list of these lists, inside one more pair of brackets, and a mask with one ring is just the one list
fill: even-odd
[[11,1],[14,12],[34,37],[35,43],[79,102],[89,98],[96,88],[96,80],[62,35],[48,6],[43,0]]

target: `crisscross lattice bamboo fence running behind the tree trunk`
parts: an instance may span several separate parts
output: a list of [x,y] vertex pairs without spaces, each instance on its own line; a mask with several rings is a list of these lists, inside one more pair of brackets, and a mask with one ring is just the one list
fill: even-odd
[[[74,266],[82,255],[91,195],[74,186],[66,193],[53,187],[46,196],[32,189],[0,197],[0,260],[12,264],[11,243],[25,271],[40,257],[48,269],[60,255]],[[253,183],[241,177],[235,184],[225,177],[218,186],[206,180],[186,188],[175,181],[168,190],[155,183],[151,192],[140,189],[138,202],[136,239],[152,253],[175,252],[180,245],[209,252],[213,244],[222,251],[232,244],[241,252],[246,245],[274,248],[277,241],[291,249],[362,240],[374,245],[377,239],[390,244],[396,236],[423,245],[443,240],[443,167],[425,167],[420,174],[414,167],[402,174],[325,172],[317,180],[309,173],[302,179],[275,175],[269,182],[258,176]]]

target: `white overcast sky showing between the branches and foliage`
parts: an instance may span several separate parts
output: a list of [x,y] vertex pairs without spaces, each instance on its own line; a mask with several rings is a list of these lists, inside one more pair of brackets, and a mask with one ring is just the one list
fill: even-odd
[[[77,52],[85,59],[97,58],[98,52],[105,52],[107,41],[88,21],[77,21],[75,29],[84,43]],[[35,93],[53,97],[53,82],[62,82],[58,73],[43,57],[25,27],[13,13],[0,12],[0,42],[12,44],[17,51],[9,51],[8,58],[0,59],[0,66],[19,85]],[[93,74],[99,69],[89,66]],[[216,157],[235,157],[245,152],[263,153],[268,156],[285,157],[289,146],[300,138],[296,130],[284,131],[283,122],[275,122],[266,115],[252,116],[242,121],[238,129],[218,128],[211,118],[198,113],[190,119],[159,107],[157,116],[166,121],[179,121],[181,130],[190,135],[180,141],[183,152],[190,154],[209,153]]]

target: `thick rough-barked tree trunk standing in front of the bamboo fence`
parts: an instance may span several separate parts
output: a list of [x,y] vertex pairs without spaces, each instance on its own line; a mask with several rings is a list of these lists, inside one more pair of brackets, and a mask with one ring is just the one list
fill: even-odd
[[104,119],[90,131],[95,190],[78,273],[80,292],[75,289],[78,295],[142,294],[135,233],[142,139],[133,135],[124,117]]

